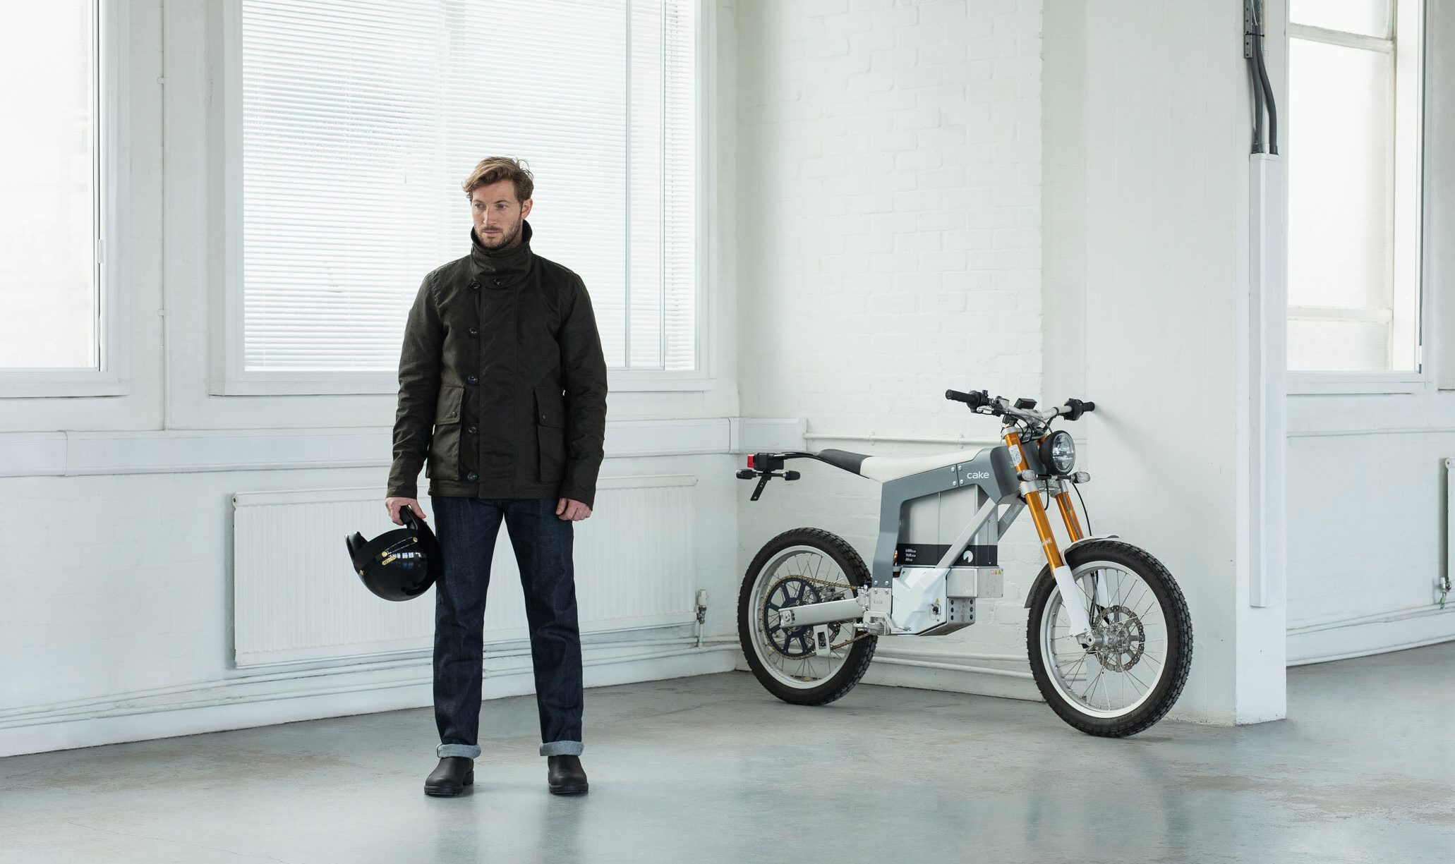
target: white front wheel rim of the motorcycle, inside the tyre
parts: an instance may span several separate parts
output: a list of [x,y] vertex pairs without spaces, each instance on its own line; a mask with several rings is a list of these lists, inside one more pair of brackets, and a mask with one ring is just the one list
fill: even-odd
[[[1165,675],[1167,615],[1152,586],[1122,564],[1088,561],[1075,567],[1071,576],[1088,611],[1094,580],[1103,579],[1107,608],[1129,609],[1142,636],[1135,639],[1136,627],[1125,614],[1099,611],[1093,615],[1093,630],[1116,633],[1117,637],[1100,655],[1085,652],[1071,633],[1061,592],[1053,591],[1040,615],[1042,668],[1051,687],[1083,714],[1107,720],[1125,717],[1151,698]],[[1131,644],[1139,644],[1141,652],[1133,653]],[[1117,671],[1119,665],[1126,665],[1126,669]]]

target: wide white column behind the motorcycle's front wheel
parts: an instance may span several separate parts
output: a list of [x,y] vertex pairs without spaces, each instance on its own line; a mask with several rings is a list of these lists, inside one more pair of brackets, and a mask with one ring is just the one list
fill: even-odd
[[[1282,3],[1267,6],[1280,22]],[[1045,31],[1046,400],[1097,403],[1074,429],[1093,524],[1157,556],[1187,595],[1193,668],[1171,716],[1280,719],[1283,599],[1250,605],[1261,540],[1283,529],[1256,506],[1282,487],[1280,470],[1254,474],[1269,423],[1282,439],[1256,384],[1282,372],[1254,351],[1251,313],[1282,320],[1282,307],[1250,292],[1241,4],[1048,0]],[[1280,44],[1282,25],[1276,81]]]

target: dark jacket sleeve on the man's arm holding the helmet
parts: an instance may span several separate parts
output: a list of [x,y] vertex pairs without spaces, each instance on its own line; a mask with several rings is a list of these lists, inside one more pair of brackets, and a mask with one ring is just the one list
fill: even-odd
[[419,497],[416,483],[434,433],[442,343],[444,326],[426,276],[409,310],[404,345],[399,352],[399,410],[394,413],[394,461],[388,468],[387,497]]

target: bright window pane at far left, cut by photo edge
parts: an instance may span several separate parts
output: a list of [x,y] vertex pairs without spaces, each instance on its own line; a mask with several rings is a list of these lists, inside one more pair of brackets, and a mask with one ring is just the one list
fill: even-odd
[[[0,371],[6,394],[116,380],[103,266],[112,204],[96,0],[15,3],[0,28]],[[41,388],[16,390],[16,383]],[[108,393],[119,390],[84,390]]]

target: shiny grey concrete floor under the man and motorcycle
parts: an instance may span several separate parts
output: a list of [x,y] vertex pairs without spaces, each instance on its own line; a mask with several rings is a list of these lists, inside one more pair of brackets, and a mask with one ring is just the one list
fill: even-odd
[[592,791],[546,791],[533,697],[431,799],[428,708],[0,759],[0,861],[1440,861],[1455,644],[1289,671],[1292,720],[1072,732],[1039,703],[746,672],[592,689]]

